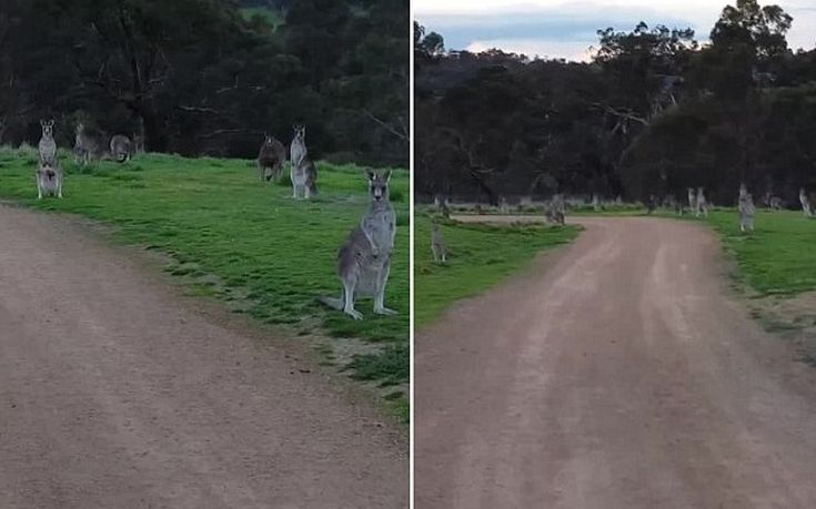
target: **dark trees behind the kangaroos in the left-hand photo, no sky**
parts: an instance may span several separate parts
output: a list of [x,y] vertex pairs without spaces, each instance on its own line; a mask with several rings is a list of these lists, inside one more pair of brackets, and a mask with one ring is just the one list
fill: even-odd
[[[265,8],[265,9],[264,9]],[[407,0],[2,0],[0,142],[82,120],[184,155],[407,164]]]

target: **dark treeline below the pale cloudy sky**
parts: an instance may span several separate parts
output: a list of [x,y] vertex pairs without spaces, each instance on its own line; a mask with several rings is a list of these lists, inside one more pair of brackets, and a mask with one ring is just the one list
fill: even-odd
[[699,44],[691,30],[598,31],[592,62],[445,52],[414,29],[417,195],[554,193],[646,200],[741,182],[797,203],[816,190],[816,50],[793,19],[739,0]]

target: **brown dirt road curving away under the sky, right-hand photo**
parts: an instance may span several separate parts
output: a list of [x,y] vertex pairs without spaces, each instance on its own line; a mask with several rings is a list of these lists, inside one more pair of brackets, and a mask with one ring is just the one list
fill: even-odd
[[416,508],[816,507],[816,370],[729,298],[717,240],[582,223],[417,335]]

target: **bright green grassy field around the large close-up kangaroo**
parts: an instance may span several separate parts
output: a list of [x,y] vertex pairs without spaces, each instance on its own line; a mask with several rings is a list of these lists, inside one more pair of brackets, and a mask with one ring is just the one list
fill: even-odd
[[[63,156],[64,198],[38,201],[36,160],[30,149],[0,150],[0,197],[111,225],[115,240],[169,255],[171,274],[235,313],[276,324],[293,338],[335,338],[322,345],[325,363],[381,386],[407,418],[406,171],[396,170],[391,181],[397,235],[385,299],[400,315],[374,316],[372,301],[363,299],[357,308],[365,319],[357,322],[322,308],[315,297],[340,295],[336,251],[369,201],[362,169],[319,164],[320,195],[305,202],[290,198],[288,183],[262,185],[251,161],[149,154],[81,170]],[[355,343],[362,346],[350,346]]]

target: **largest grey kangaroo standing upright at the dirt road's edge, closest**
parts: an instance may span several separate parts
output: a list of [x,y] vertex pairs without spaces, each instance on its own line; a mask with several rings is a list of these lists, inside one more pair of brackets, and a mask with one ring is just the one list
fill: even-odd
[[366,173],[371,194],[369,210],[338,252],[338,275],[343,293],[340,298],[320,298],[326,306],[342,309],[354,319],[363,318],[354,309],[354,297],[361,294],[374,297],[375,314],[396,315],[383,303],[396,234],[396,214],[389,200],[391,171],[382,175],[371,170]]

